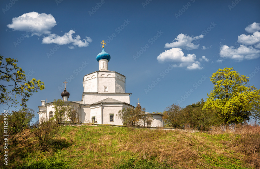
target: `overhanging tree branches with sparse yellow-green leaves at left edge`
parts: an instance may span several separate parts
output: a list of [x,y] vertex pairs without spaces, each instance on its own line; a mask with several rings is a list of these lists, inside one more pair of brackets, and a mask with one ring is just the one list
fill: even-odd
[[31,79],[26,82],[26,76],[21,67],[18,67],[17,59],[5,58],[6,64],[2,63],[3,56],[0,55],[0,104],[9,107],[17,104],[16,95],[21,97],[21,106],[25,109],[27,102],[33,92],[45,89],[41,80]]

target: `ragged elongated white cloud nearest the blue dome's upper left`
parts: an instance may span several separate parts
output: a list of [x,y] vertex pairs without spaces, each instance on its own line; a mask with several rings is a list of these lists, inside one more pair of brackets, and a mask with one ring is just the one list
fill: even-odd
[[56,34],[50,34],[47,37],[42,38],[43,44],[51,44],[55,43],[58,45],[66,45],[72,43],[75,46],[79,47],[87,47],[90,42],[92,42],[92,39],[89,37],[86,37],[86,39],[81,40],[79,35],[76,35],[75,38],[72,37],[72,34],[75,33],[75,31],[70,30],[69,32],[66,32],[63,36],[59,36]]

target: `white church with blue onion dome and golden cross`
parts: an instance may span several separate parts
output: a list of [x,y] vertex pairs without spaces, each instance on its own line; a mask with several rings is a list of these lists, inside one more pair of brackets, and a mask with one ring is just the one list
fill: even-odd
[[[125,91],[126,76],[108,70],[110,55],[104,50],[104,41],[101,44],[103,44],[103,50],[96,57],[99,62],[99,70],[83,77],[81,101],[69,101],[69,92],[66,87],[61,93],[62,100],[79,111],[80,123],[123,125],[116,114],[123,108],[134,107],[130,104],[132,93],[126,93]],[[46,103],[45,100],[41,100],[41,102],[42,105],[38,106],[39,119],[53,117],[55,113],[54,102]],[[139,103],[138,106],[140,106]],[[151,126],[163,126],[162,115],[151,114],[154,119]]]

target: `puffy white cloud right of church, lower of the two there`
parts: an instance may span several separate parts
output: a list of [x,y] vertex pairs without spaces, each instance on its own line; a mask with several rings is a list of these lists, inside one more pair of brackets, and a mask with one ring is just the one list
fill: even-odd
[[[206,59],[206,57],[205,57]],[[172,48],[169,50],[165,50],[165,52],[162,52],[159,56],[157,56],[158,62],[165,62],[165,61],[171,61],[171,62],[179,62],[179,65],[173,64],[173,67],[186,67],[188,70],[194,70],[194,69],[202,69],[203,67],[200,67],[200,63],[196,61],[196,55],[193,54],[187,54],[187,56],[184,56],[183,51],[180,48]]]

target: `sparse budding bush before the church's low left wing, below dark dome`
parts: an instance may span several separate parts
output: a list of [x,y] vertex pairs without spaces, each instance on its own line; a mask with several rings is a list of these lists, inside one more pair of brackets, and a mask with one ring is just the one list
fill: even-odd
[[56,124],[69,120],[71,123],[79,123],[79,111],[71,104],[63,102],[61,99],[54,100],[54,118]]

